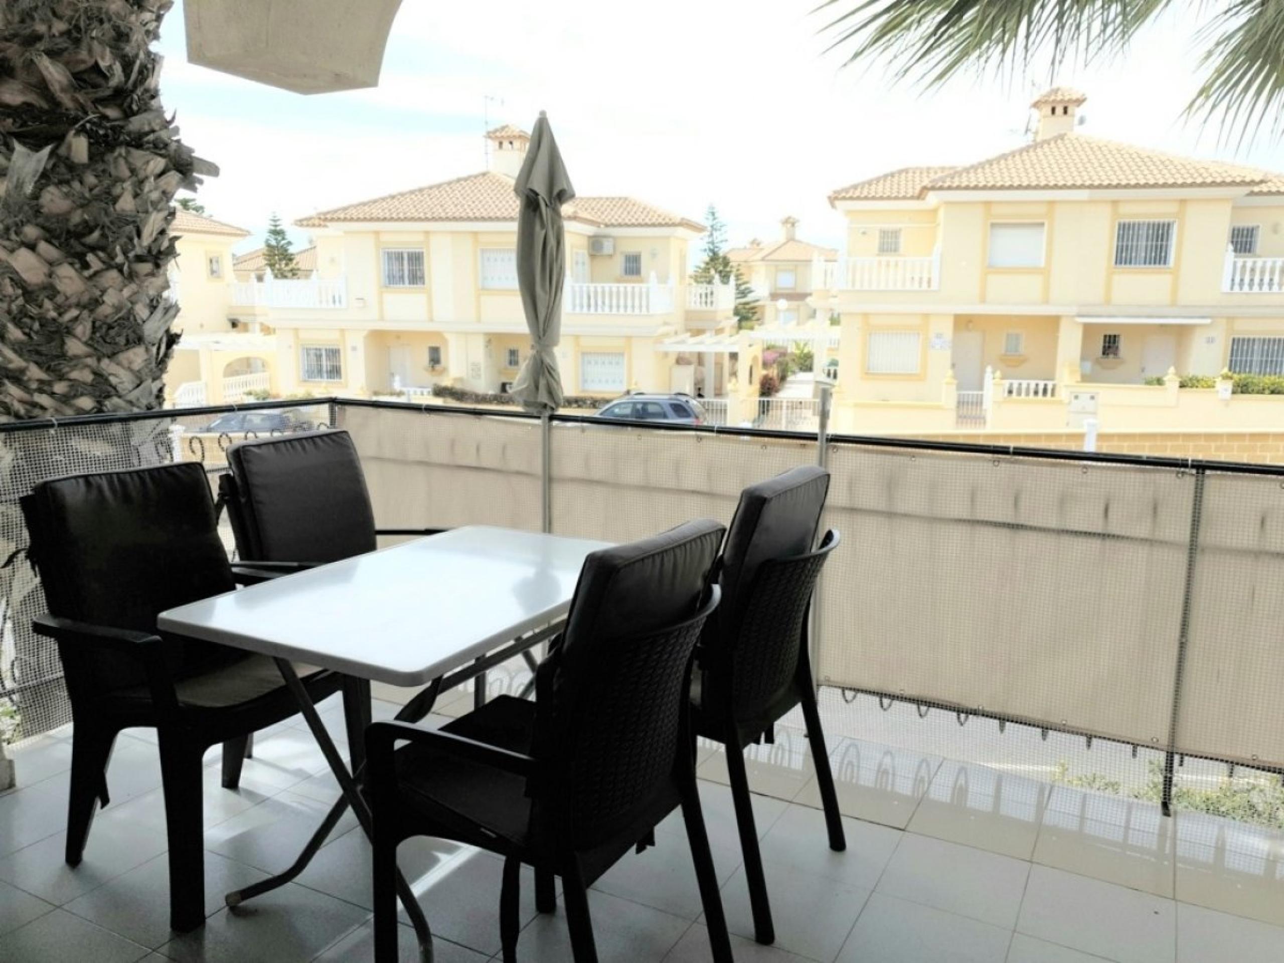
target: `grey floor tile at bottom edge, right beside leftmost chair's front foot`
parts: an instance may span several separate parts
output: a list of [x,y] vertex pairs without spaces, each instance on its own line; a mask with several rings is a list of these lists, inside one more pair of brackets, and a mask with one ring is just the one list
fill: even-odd
[[160,948],[182,963],[304,963],[370,914],[360,907],[288,883],[223,909],[199,930]]

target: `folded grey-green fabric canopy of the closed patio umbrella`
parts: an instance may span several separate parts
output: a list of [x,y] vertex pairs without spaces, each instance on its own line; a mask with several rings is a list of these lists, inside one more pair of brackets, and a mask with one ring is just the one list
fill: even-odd
[[530,329],[530,356],[512,383],[512,397],[542,415],[561,407],[561,374],[553,348],[561,340],[561,295],[566,277],[562,204],[575,196],[557,141],[543,110],[530,135],[514,191],[517,214],[517,288]]

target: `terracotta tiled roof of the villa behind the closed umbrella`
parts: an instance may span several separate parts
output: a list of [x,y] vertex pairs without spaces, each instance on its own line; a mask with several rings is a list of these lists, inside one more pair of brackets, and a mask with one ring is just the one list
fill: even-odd
[[[690,227],[704,225],[633,198],[577,198],[565,217],[600,227]],[[487,171],[415,187],[383,198],[321,211],[295,221],[299,227],[324,227],[353,221],[516,221],[517,195],[512,178]]]

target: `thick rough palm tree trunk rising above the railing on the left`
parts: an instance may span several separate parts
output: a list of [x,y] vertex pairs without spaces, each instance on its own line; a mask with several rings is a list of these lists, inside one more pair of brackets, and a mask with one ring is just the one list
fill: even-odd
[[0,3],[0,421],[157,408],[180,187],[152,50],[172,0]]

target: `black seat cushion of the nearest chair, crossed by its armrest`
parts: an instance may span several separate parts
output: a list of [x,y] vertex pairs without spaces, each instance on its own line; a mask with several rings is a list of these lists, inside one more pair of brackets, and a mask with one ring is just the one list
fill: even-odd
[[[534,702],[499,696],[442,729],[528,755],[534,715]],[[492,840],[525,845],[532,805],[525,777],[457,759],[430,743],[397,750],[395,765],[406,804],[453,837],[471,838],[480,827]]]

